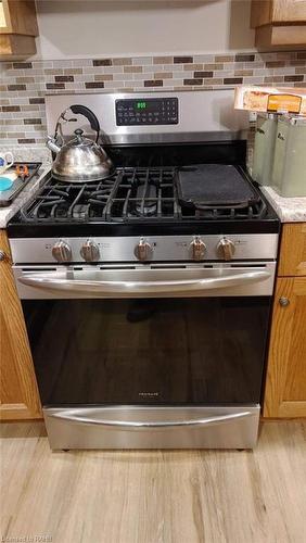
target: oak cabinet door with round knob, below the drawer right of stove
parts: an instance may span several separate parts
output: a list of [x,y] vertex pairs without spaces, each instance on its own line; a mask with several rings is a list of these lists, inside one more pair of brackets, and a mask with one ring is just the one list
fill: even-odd
[[277,281],[264,416],[306,416],[306,277]]

